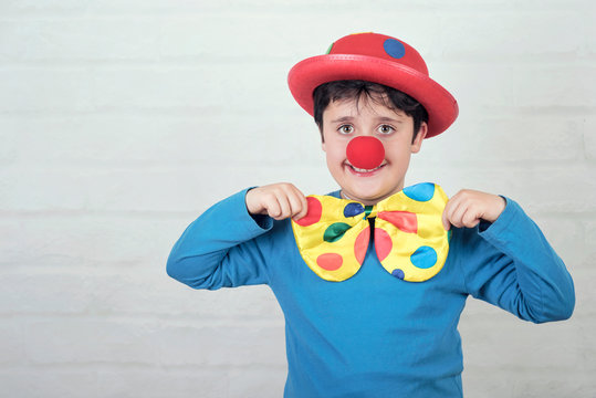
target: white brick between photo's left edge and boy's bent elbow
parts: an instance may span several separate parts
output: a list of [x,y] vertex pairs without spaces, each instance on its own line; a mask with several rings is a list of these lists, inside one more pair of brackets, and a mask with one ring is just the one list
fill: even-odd
[[117,216],[57,218],[48,222],[2,219],[1,263],[12,268],[72,270],[142,264],[161,272],[171,245],[189,222],[168,227],[167,222],[125,220]]

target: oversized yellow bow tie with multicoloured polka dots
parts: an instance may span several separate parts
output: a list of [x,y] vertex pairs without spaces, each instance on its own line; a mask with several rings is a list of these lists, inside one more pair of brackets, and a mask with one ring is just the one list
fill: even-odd
[[309,268],[339,282],[362,266],[369,219],[375,218],[375,251],[383,268],[408,282],[424,282],[443,266],[450,233],[442,227],[447,195],[430,182],[404,188],[375,206],[330,196],[309,196],[309,212],[292,229]]

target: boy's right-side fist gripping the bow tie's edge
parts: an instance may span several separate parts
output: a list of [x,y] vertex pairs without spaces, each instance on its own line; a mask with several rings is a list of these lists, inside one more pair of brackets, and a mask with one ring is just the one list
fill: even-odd
[[462,189],[447,202],[442,222],[447,231],[453,227],[473,228],[480,220],[494,222],[505,209],[505,199],[498,195]]

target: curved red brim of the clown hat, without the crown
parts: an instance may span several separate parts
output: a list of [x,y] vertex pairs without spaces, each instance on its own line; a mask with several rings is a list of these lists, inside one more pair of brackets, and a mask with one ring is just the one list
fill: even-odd
[[309,57],[287,75],[290,91],[311,116],[313,91],[323,83],[364,80],[399,90],[418,101],[428,112],[427,138],[445,132],[458,117],[456,98],[429,76],[401,64],[368,55],[327,54]]

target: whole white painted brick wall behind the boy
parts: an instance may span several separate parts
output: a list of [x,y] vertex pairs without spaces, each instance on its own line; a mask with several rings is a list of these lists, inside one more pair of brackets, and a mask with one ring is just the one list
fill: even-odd
[[166,276],[184,228],[249,185],[334,187],[286,73],[344,34],[412,44],[460,103],[409,182],[517,200],[572,272],[571,321],[470,298],[468,397],[594,397],[592,0],[0,1],[0,397],[280,397],[264,286]]

